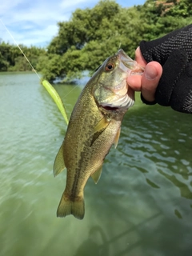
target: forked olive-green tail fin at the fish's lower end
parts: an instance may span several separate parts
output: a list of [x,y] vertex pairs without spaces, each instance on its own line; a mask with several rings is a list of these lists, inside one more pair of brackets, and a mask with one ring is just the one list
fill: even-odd
[[67,215],[72,214],[75,218],[84,218],[85,203],[83,195],[82,197],[78,197],[74,201],[71,201],[64,194],[65,192],[62,194],[61,201],[58,205],[57,217],[66,217]]

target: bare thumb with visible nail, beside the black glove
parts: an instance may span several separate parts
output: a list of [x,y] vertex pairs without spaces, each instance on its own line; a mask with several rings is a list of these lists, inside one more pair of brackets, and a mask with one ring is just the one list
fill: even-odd
[[162,76],[162,66],[158,62],[149,62],[142,74],[142,97],[147,102],[154,102],[154,94]]

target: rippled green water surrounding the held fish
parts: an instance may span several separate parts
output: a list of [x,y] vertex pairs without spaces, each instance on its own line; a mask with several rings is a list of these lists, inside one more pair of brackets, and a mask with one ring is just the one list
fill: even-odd
[[[70,114],[82,86],[55,88]],[[138,98],[98,185],[86,184],[85,218],[56,218],[66,124],[35,74],[1,74],[0,255],[190,256],[191,129],[192,115]]]

